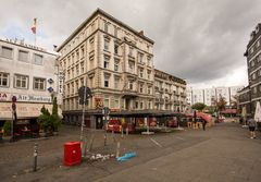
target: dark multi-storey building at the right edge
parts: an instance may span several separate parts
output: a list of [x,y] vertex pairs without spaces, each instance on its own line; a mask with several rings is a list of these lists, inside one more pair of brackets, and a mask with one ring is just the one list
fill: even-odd
[[[251,114],[256,110],[257,101],[261,101],[261,24],[259,23],[250,34],[247,50],[244,53],[247,58],[249,92],[243,92],[239,106],[247,109]],[[247,94],[249,96],[247,96]],[[244,99],[243,99],[244,98]],[[249,100],[246,100],[249,98]]]

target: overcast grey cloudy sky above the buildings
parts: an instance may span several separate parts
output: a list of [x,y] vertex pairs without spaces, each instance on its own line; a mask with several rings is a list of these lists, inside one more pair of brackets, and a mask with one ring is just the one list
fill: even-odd
[[154,40],[157,69],[192,87],[247,85],[243,56],[261,23],[260,0],[0,0],[0,37],[52,49],[97,8]]

